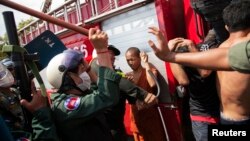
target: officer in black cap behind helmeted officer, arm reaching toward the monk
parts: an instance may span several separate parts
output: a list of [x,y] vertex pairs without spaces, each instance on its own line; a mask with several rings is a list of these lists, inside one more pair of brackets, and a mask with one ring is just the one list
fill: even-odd
[[[114,140],[127,141],[132,137],[127,135],[124,125],[126,101],[128,101],[129,104],[136,104],[139,109],[143,109],[156,104],[157,98],[154,94],[148,93],[144,89],[133,84],[131,81],[125,78],[125,74],[119,68],[115,68],[115,56],[120,55],[120,51],[114,45],[108,45],[108,51],[110,54],[112,67],[117,74],[122,76],[122,78],[119,83],[119,101],[116,105],[108,108],[105,111],[105,116]],[[97,58],[95,58],[96,51],[93,53],[92,57],[94,57],[94,59],[90,62],[91,70],[98,74],[99,65]]]

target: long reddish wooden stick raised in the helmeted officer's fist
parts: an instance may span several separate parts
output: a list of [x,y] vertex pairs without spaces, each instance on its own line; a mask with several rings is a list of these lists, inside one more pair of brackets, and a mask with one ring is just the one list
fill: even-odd
[[36,10],[33,10],[33,9],[25,7],[25,6],[22,6],[20,4],[12,2],[10,0],[0,0],[0,4],[5,5],[7,7],[10,7],[10,8],[13,8],[13,9],[18,10],[18,11],[21,11],[23,13],[32,15],[32,16],[37,17],[39,19],[48,21],[50,23],[59,25],[61,27],[71,29],[73,31],[79,32],[79,33],[84,34],[84,35],[88,35],[88,30],[83,28],[83,27],[79,27],[79,26],[76,26],[74,24],[67,23],[67,22],[60,20],[60,19],[56,19],[52,16],[49,16],[49,15],[44,14],[42,12],[38,12]]

